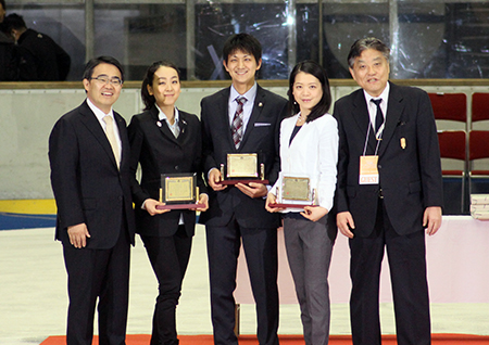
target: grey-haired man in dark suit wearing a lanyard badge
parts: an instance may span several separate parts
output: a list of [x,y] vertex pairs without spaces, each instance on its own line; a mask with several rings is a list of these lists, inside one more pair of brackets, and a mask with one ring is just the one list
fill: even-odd
[[441,226],[440,152],[426,92],[388,81],[389,48],[360,39],[348,56],[362,89],[335,104],[337,225],[350,239],[353,344],[380,344],[379,276],[387,248],[398,344],[430,344],[425,235]]

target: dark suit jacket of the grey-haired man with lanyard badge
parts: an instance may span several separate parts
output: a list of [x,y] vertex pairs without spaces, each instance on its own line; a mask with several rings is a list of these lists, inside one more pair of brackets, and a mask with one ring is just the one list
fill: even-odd
[[[422,229],[428,206],[442,206],[442,179],[437,129],[427,93],[417,88],[390,84],[386,125],[379,146],[379,183],[359,184],[360,156],[371,126],[362,89],[335,104],[340,146],[338,159],[338,212],[349,210],[355,234],[372,233],[377,215],[378,191],[396,232]],[[401,138],[405,149],[401,148]],[[376,140],[371,130],[367,154]]]

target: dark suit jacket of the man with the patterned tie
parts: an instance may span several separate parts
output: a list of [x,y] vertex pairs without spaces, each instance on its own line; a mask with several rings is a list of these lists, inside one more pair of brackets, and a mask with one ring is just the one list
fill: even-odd
[[[227,162],[228,153],[258,153],[265,165],[265,179],[273,186],[280,170],[278,133],[287,111],[287,100],[258,86],[256,98],[239,150],[233,142],[228,102],[230,88],[202,99],[202,159],[206,176],[211,168]],[[243,228],[276,228],[277,214],[265,209],[263,197],[251,199],[235,187],[214,192],[210,189],[209,210],[200,220],[208,226],[225,226],[235,216]]]

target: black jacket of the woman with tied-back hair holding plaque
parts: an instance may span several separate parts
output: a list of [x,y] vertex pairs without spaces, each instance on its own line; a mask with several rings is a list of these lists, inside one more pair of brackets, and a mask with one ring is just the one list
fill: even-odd
[[[136,212],[136,231],[145,235],[170,237],[178,229],[180,214],[184,214],[185,229],[193,235],[195,210],[171,210],[151,216],[141,209],[145,200],[160,199],[161,174],[197,173],[197,186],[205,193],[201,168],[200,122],[196,115],[179,111],[180,133],[172,133],[165,120],[159,120],[156,106],[133,116],[128,127],[130,141],[131,190]],[[161,124],[161,127],[156,125]],[[141,165],[141,183],[136,179],[138,163]]]

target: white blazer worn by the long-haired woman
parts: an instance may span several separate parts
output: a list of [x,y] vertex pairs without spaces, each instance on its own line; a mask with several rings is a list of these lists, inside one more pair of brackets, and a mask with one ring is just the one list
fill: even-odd
[[[290,136],[300,113],[285,118],[280,125],[280,176],[308,176],[319,206],[328,212],[333,207],[338,162],[338,125],[330,114],[305,123],[289,145]],[[272,188],[277,195],[281,179]],[[287,212],[302,212],[287,208]]]

